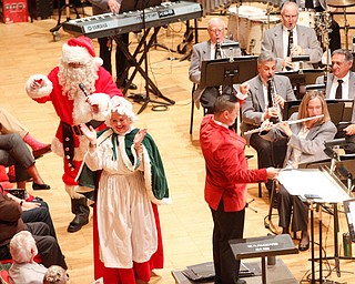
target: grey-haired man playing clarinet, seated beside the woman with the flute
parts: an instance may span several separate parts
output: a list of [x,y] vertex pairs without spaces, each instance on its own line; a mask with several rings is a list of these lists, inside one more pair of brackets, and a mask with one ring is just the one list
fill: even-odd
[[[284,75],[275,75],[276,58],[271,52],[262,52],[257,58],[258,74],[248,81],[250,90],[242,104],[242,133],[261,126],[262,122],[270,118],[278,118],[285,101],[296,100],[290,79]],[[275,87],[275,105],[267,95],[267,83],[273,81]],[[275,106],[275,108],[274,108]],[[254,148],[258,156],[258,166],[282,165],[285,152],[285,141],[271,143],[258,136],[257,133],[245,136],[248,144]],[[272,181],[266,184],[271,196]]]

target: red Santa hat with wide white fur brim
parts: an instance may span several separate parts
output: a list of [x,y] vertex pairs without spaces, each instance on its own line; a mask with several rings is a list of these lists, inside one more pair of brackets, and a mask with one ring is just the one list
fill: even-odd
[[62,47],[61,60],[65,63],[85,64],[92,59],[94,59],[97,65],[102,65],[102,59],[95,58],[92,40],[88,37],[72,38]]

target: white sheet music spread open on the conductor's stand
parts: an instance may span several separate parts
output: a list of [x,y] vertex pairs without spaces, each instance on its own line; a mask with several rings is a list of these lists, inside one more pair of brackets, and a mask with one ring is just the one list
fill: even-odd
[[316,194],[315,203],[339,203],[351,197],[344,189],[325,171],[318,169],[282,170],[277,180],[291,195]]

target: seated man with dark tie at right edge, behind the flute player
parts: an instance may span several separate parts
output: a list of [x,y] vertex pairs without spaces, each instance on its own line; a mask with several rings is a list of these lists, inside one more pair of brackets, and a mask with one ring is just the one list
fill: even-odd
[[[355,72],[352,71],[353,54],[345,49],[337,49],[332,53],[332,73],[326,79],[326,99],[355,100]],[[324,83],[324,77],[318,77],[317,84]],[[355,101],[354,101],[355,102]],[[355,153],[355,110],[353,108],[352,124],[345,129],[339,126],[337,138],[344,138],[348,141],[344,145],[346,153]]]

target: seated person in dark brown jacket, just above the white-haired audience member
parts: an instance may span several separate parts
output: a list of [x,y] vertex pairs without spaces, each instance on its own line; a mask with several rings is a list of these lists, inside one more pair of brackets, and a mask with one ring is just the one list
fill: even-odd
[[45,267],[60,265],[67,270],[64,256],[55,237],[50,235],[49,226],[43,222],[23,223],[21,205],[0,192],[0,260],[10,260],[10,240],[18,232],[29,231]]

